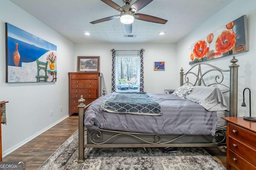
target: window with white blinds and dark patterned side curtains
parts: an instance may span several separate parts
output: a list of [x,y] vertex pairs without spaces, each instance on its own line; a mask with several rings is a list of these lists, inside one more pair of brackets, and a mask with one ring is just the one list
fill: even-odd
[[143,92],[143,49],[112,50],[112,92]]

